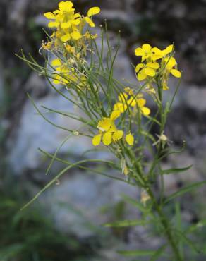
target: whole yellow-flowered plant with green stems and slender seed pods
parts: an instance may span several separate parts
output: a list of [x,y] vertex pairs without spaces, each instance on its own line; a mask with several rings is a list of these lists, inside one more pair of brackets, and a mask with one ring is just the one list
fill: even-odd
[[[68,166],[59,172],[25,207],[52,186],[68,169],[75,166],[84,167],[85,162],[104,162],[119,170],[119,176],[110,176],[101,171],[97,171],[98,174],[118,179],[142,190],[140,199],[130,199],[137,203],[140,212],[143,213],[142,219],[118,221],[107,226],[158,224],[159,235],[166,238],[164,245],[157,250],[123,250],[119,253],[130,256],[148,255],[150,260],[158,260],[161,255],[165,255],[166,260],[185,260],[183,245],[191,246],[193,243],[181,227],[176,227],[176,223],[166,216],[164,208],[183,193],[202,186],[205,181],[183,187],[167,198],[164,196],[164,175],[181,173],[190,168],[186,166],[181,169],[162,169],[161,164],[162,159],[169,154],[180,153],[185,147],[183,143],[180,151],[174,151],[169,146],[169,138],[165,134],[166,121],[178,86],[170,100],[164,102],[163,94],[169,90],[171,76],[181,78],[181,71],[178,71],[174,58],[174,44],[165,49],[151,47],[150,44],[137,47],[134,54],[141,59],[140,63],[133,66],[137,83],[135,85],[128,82],[122,83],[114,78],[114,63],[118,55],[120,37],[118,37],[116,49],[113,49],[109,42],[106,23],[105,28],[100,26],[100,35],[90,31],[90,28],[95,28],[93,16],[99,12],[99,7],[92,7],[87,11],[86,16],[83,16],[75,12],[71,1],[61,1],[55,11],[44,13],[49,20],[48,27],[52,28],[52,35],[46,32],[48,41],[42,43],[40,50],[45,59],[45,66],[40,66],[31,56],[30,59],[26,58],[23,52],[20,58],[37,73],[44,75],[51,87],[63,99],[67,99],[78,107],[84,115],[84,117],[78,114],[74,116],[49,109],[56,114],[80,121],[84,128],[70,130],[54,126],[67,130],[69,135],[87,136],[94,150],[102,144],[115,155],[116,160],[85,159],[71,163],[56,157],[59,149],[54,155],[41,150],[52,159],[52,162],[57,160]],[[101,38],[100,47],[96,42],[97,37]],[[107,43],[106,55],[104,55],[104,39]],[[32,101],[31,97],[30,99]],[[146,99],[152,100],[154,111],[147,105]],[[32,103],[39,114],[49,121],[33,101]],[[49,123],[52,122],[49,121]],[[153,126],[159,129],[157,135],[152,134]],[[154,185],[157,183],[160,192],[154,193]],[[176,207],[176,209],[179,217],[179,208]],[[193,249],[196,250],[194,246]]]

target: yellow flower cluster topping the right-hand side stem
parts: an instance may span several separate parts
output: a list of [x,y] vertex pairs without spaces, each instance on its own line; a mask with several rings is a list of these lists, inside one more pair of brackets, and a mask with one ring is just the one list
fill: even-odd
[[177,69],[176,59],[174,58],[174,45],[171,44],[166,49],[160,50],[151,47],[150,44],[143,44],[142,47],[135,49],[135,55],[141,56],[141,63],[135,67],[138,80],[146,80],[150,83],[159,76],[162,81],[163,90],[169,90],[167,82],[169,75],[176,78],[181,77],[181,72]]

